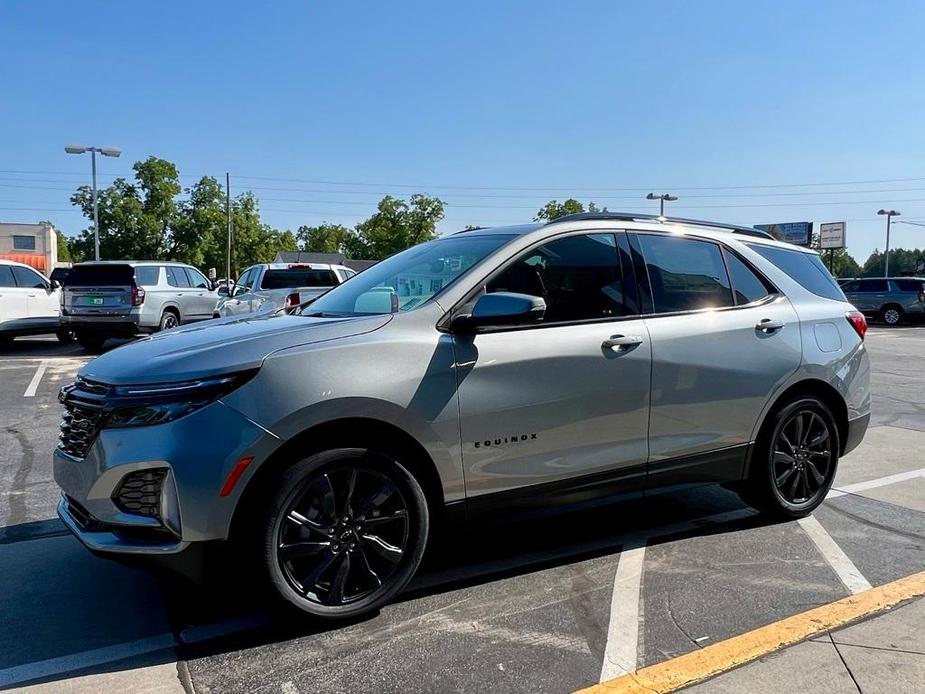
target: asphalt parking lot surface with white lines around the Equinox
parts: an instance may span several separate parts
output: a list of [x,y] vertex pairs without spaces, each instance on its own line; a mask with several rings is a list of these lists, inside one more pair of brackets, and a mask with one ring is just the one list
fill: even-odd
[[867,345],[871,429],[812,519],[769,524],[700,488],[455,530],[403,599],[333,626],[262,603],[233,564],[193,589],[80,547],[50,452],[57,390],[90,357],[17,340],[0,352],[0,688],[566,692],[922,571],[925,327]]

